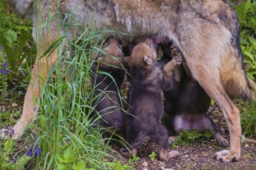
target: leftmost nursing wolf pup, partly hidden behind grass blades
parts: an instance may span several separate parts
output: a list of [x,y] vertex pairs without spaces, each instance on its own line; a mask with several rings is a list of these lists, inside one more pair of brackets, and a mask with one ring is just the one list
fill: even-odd
[[[125,70],[117,66],[108,64],[108,60],[123,58],[122,44],[117,39],[109,37],[103,45],[103,53],[95,53],[92,58],[98,59],[93,63],[92,87],[95,87],[94,100],[92,106],[102,118],[99,125],[108,128],[123,128],[125,115],[121,101],[121,85]],[[109,75],[99,73],[99,71],[109,73]]]

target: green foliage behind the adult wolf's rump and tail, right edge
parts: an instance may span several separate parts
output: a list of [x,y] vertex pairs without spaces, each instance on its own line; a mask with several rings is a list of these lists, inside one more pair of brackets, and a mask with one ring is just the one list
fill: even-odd
[[[247,76],[256,79],[256,1],[247,0],[235,7],[240,22],[240,44]],[[256,138],[256,102],[240,104],[243,133]]]

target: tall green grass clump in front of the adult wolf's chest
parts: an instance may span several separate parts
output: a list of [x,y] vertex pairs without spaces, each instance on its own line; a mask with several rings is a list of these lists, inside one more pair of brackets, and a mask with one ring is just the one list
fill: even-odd
[[[58,15],[54,17],[58,19]],[[58,19],[58,25],[64,26],[64,30],[68,30],[69,26],[81,27],[72,18]],[[39,26],[43,28],[47,25],[40,23]],[[52,49],[57,48],[60,58],[44,80],[40,101],[37,101],[36,135],[41,154],[36,158],[35,167],[106,169],[107,158],[111,157],[106,145],[109,139],[102,138],[100,129],[95,126],[100,117],[94,114],[92,100],[95,100],[95,87],[90,82],[91,56],[95,49],[99,49],[104,31],[95,32],[93,26],[85,26],[81,36],[74,34],[71,41],[65,35],[60,33],[59,39],[52,42],[50,49],[43,54],[46,55],[43,57],[50,57]],[[65,49],[61,46],[63,41],[67,42]]]

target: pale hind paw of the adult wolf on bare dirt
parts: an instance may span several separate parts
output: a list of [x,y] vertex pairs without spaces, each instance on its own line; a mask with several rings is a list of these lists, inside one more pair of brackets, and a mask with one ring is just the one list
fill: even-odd
[[235,151],[218,151],[214,154],[214,158],[220,162],[236,162],[240,156]]

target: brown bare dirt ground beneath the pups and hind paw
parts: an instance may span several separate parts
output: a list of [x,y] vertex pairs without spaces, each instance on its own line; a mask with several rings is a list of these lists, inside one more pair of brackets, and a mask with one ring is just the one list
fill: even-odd
[[[220,110],[217,107],[210,110],[210,117],[216,122],[220,133],[224,138],[229,139],[227,124]],[[119,153],[120,149],[120,146],[118,145],[112,145],[114,151],[112,151],[111,154],[122,160],[123,164],[131,165],[133,168],[138,170],[256,169],[256,144],[254,143],[241,143],[241,156],[240,160],[237,162],[220,162],[213,158],[215,152],[228,149],[218,145],[214,138],[210,139],[209,141],[195,141],[189,145],[177,145],[177,148],[170,148],[171,150],[180,151],[181,156],[178,158],[173,158],[168,162],[161,162],[158,156],[154,158],[154,161],[150,160],[149,155],[152,153],[152,151],[154,151],[156,154],[158,153],[157,147],[158,145],[153,142],[140,146],[137,152],[137,157],[139,160],[133,164],[130,164],[128,158],[122,158],[119,156],[119,154],[117,154]]]

